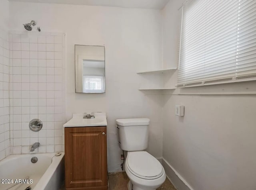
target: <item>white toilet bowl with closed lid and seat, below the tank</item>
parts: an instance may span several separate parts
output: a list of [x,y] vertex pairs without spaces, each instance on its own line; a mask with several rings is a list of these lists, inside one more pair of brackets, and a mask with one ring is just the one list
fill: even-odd
[[128,152],[124,168],[129,190],[156,190],[166,179],[163,166],[146,151]]

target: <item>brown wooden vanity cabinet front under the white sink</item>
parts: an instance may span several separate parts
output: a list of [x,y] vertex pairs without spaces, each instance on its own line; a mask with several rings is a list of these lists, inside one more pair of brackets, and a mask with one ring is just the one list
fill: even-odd
[[107,189],[106,127],[65,128],[65,186]]

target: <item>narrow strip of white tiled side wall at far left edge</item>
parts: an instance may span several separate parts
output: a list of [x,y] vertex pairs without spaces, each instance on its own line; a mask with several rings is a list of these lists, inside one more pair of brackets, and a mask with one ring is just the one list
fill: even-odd
[[8,31],[0,29],[0,160],[10,155]]

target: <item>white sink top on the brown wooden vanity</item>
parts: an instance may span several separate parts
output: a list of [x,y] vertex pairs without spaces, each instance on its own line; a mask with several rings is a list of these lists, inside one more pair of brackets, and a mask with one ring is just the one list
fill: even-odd
[[95,112],[95,118],[83,119],[84,114],[73,114],[73,118],[70,119],[63,127],[93,127],[93,126],[107,126],[106,113]]

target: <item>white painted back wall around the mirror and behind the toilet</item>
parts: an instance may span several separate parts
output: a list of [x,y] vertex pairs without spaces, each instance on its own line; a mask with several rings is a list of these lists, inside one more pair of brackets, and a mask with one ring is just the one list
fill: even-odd
[[[73,113],[106,112],[108,115],[108,170],[120,170],[120,149],[115,119],[148,117],[148,151],[162,156],[162,99],[138,89],[138,70],[162,64],[162,13],[125,9],[10,2],[10,29],[24,30],[36,20],[42,31],[66,33],[66,119]],[[106,93],[76,94],[74,44],[105,45]]]

